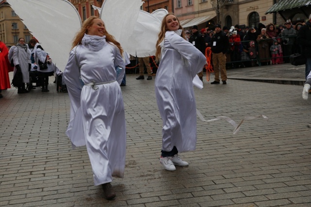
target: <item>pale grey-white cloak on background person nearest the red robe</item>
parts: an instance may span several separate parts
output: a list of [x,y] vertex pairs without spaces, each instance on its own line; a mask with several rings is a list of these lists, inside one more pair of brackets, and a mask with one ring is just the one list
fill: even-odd
[[[13,48],[13,63],[14,65],[19,64],[21,73],[23,75],[23,83],[29,83],[29,71],[28,67],[31,64],[30,50],[17,46]],[[14,67],[14,75],[16,73],[16,67]]]

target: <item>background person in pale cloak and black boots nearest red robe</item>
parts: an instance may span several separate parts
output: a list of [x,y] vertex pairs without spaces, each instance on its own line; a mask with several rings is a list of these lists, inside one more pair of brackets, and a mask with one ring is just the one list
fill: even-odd
[[17,94],[27,93],[28,91],[25,88],[25,83],[29,83],[29,71],[31,68],[31,60],[30,60],[30,51],[25,44],[24,38],[19,38],[18,43],[15,48],[13,48],[13,64],[14,67],[14,75],[17,71],[17,68],[20,68],[22,76],[23,76],[23,83],[17,89]]

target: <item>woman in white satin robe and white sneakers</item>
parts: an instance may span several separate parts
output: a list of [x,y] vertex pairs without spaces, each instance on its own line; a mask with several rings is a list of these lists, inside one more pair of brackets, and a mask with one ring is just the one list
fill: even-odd
[[207,64],[203,53],[187,41],[176,16],[163,18],[156,43],[160,60],[155,78],[156,102],[163,120],[160,163],[166,170],[188,166],[178,152],[195,150],[196,105],[192,80]]

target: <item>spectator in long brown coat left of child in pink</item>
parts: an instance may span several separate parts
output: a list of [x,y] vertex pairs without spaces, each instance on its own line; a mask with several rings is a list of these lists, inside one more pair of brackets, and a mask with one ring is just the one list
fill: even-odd
[[270,46],[271,42],[270,36],[267,34],[266,29],[262,28],[261,33],[257,37],[258,42],[258,55],[259,60],[262,65],[270,64]]

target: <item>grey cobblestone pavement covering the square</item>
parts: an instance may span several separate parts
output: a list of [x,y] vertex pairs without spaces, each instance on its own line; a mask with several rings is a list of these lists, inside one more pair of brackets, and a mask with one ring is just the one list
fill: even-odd
[[[10,73],[12,80],[12,73]],[[302,86],[228,79],[195,89],[205,119],[266,115],[244,121],[240,132],[225,121],[197,127],[197,149],[181,153],[188,167],[165,171],[159,163],[162,121],[153,80],[127,75],[122,87],[127,144],[125,177],[107,201],[85,147],[71,149],[65,135],[69,96],[35,89],[0,99],[0,206],[10,207],[311,207],[311,98]],[[228,70],[228,77],[304,80],[289,64]],[[210,81],[213,81],[212,75]]]

